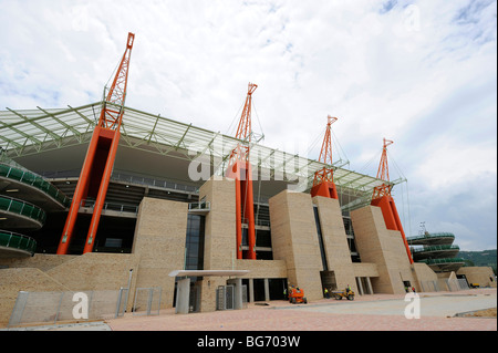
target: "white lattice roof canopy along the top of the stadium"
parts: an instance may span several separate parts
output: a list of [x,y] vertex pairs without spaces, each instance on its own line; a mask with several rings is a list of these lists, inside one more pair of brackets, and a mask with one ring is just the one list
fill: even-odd
[[[0,112],[0,145],[11,158],[39,154],[44,150],[85,145],[98,120],[103,102],[79,107]],[[110,103],[107,103],[110,104]],[[194,160],[199,156],[214,164],[215,174],[222,175],[231,150],[243,141],[215,133],[191,124],[177,122],[131,107],[124,107],[121,146],[142,149],[168,157]],[[206,160],[206,159],[205,159]],[[315,170],[330,167],[314,159],[251,144],[251,164],[266,180],[284,180],[297,190],[309,190]],[[372,190],[383,180],[343,168],[339,160],[334,183],[340,194],[352,196],[342,208],[355,208],[367,201]],[[395,180],[395,185],[404,180]],[[347,205],[345,205],[347,204]]]

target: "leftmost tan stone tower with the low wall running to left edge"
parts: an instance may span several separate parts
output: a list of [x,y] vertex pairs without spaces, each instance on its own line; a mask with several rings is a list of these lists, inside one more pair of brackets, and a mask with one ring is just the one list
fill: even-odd
[[128,310],[137,287],[160,287],[162,308],[173,307],[175,279],[184,268],[188,205],[144,198],[137,216],[132,253],[90,252],[82,256],[37,253],[1,259],[0,324],[7,324],[19,291],[118,290],[133,270]]

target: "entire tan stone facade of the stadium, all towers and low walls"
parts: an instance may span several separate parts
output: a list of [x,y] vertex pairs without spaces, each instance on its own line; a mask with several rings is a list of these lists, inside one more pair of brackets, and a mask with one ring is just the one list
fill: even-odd
[[[409,263],[401,232],[386,228],[378,207],[351,211],[362,261],[352,262],[339,200],[283,190],[269,200],[273,260],[242,260],[236,258],[234,180],[212,177],[200,188],[199,199],[210,206],[205,214],[204,269],[249,270],[242,279],[248,279],[250,300],[255,298],[257,280],[263,280],[264,298],[270,300],[271,279],[301,287],[309,301],[321,299],[322,280],[329,272],[333,273],[338,290],[349,284],[357,294],[404,293],[404,281],[421,291],[421,283],[438,281],[427,264]],[[323,272],[314,208],[329,272]],[[7,324],[19,291],[118,290],[127,287],[129,270],[133,276],[128,310],[135,289],[149,287],[160,287],[162,308],[170,308],[175,278],[168,274],[184,269],[187,222],[186,203],[145,197],[137,215],[132,253],[37,253],[31,258],[0,259],[0,266],[6,267],[0,270],[0,326]],[[488,268],[461,268],[458,274],[466,274],[483,287],[496,287]],[[216,289],[234,280],[205,277],[193,283],[200,294],[200,311],[216,310]]]

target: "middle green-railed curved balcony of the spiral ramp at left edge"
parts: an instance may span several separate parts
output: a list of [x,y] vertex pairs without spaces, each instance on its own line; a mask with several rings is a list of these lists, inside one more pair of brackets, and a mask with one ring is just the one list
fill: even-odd
[[0,195],[0,228],[38,230],[46,214],[33,204]]

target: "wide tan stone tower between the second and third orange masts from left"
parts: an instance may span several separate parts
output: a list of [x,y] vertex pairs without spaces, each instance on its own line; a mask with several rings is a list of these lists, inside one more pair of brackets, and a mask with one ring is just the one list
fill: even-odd
[[304,289],[308,300],[322,298],[323,270],[309,194],[283,190],[270,198],[273,259],[284,260],[289,285]]

